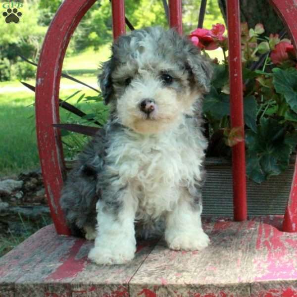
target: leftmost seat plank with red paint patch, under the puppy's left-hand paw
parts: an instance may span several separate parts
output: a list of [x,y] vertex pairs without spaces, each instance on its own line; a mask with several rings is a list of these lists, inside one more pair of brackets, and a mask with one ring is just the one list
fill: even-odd
[[155,244],[140,242],[126,265],[96,265],[87,259],[93,242],[59,236],[50,225],[0,259],[0,292],[13,286],[17,297],[128,297],[130,279]]

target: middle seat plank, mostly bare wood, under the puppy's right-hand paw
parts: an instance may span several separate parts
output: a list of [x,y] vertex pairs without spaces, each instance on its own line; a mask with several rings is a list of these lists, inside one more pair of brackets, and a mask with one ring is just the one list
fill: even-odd
[[255,246],[258,223],[222,220],[204,229],[211,244],[199,252],[157,244],[130,281],[130,296],[249,297],[248,251]]

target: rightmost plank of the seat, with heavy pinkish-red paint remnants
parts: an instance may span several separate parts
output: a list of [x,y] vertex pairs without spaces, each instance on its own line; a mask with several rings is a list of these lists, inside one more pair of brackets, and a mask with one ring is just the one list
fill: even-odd
[[258,219],[251,296],[297,296],[297,233],[280,231],[282,217]]

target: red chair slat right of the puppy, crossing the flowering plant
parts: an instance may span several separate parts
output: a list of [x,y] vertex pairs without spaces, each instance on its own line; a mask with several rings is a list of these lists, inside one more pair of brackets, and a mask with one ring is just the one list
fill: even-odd
[[[245,137],[239,0],[227,1],[231,128]],[[232,148],[234,220],[247,219],[245,142]]]

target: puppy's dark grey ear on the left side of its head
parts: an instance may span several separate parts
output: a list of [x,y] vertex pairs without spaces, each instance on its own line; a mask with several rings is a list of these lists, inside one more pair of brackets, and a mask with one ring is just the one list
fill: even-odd
[[112,58],[101,65],[101,74],[99,75],[99,85],[104,99],[104,104],[107,105],[113,96],[113,86],[111,73],[113,71]]

